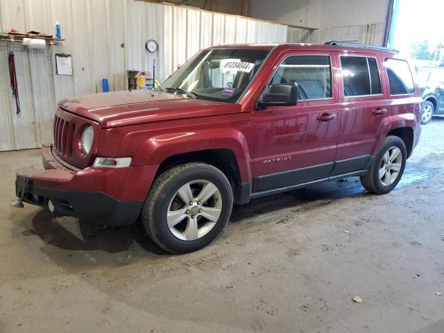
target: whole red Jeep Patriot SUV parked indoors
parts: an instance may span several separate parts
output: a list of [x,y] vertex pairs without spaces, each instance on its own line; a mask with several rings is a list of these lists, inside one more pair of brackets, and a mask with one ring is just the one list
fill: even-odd
[[386,194],[420,136],[412,74],[376,46],[205,49],[155,91],[61,101],[44,170],[18,169],[17,196],[94,223],[141,216],[185,253],[221,233],[233,203],[350,176]]

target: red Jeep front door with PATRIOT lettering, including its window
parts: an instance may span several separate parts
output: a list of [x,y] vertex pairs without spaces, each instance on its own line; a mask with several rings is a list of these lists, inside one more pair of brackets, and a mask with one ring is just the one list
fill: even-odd
[[253,192],[324,179],[332,171],[341,122],[332,56],[286,53],[268,74],[262,94],[272,84],[297,84],[298,103],[264,110],[253,105]]

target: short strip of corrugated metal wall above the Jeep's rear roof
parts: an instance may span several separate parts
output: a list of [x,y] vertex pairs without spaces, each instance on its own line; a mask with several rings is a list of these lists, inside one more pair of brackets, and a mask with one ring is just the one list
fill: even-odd
[[327,40],[357,40],[359,43],[382,45],[384,24],[365,24],[363,26],[339,26],[304,31],[289,28],[289,42],[323,44]]

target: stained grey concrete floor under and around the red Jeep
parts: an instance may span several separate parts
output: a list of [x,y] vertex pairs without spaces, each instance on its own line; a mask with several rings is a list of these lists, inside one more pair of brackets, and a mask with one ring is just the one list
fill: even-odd
[[189,255],[11,207],[40,153],[0,153],[0,332],[442,333],[444,118],[422,133],[391,194],[348,178],[254,200]]

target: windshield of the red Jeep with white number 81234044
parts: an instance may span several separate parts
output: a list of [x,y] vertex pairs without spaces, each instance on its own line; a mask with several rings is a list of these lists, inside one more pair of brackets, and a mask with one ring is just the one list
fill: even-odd
[[196,99],[234,103],[269,52],[258,49],[200,51],[170,76],[161,89]]

